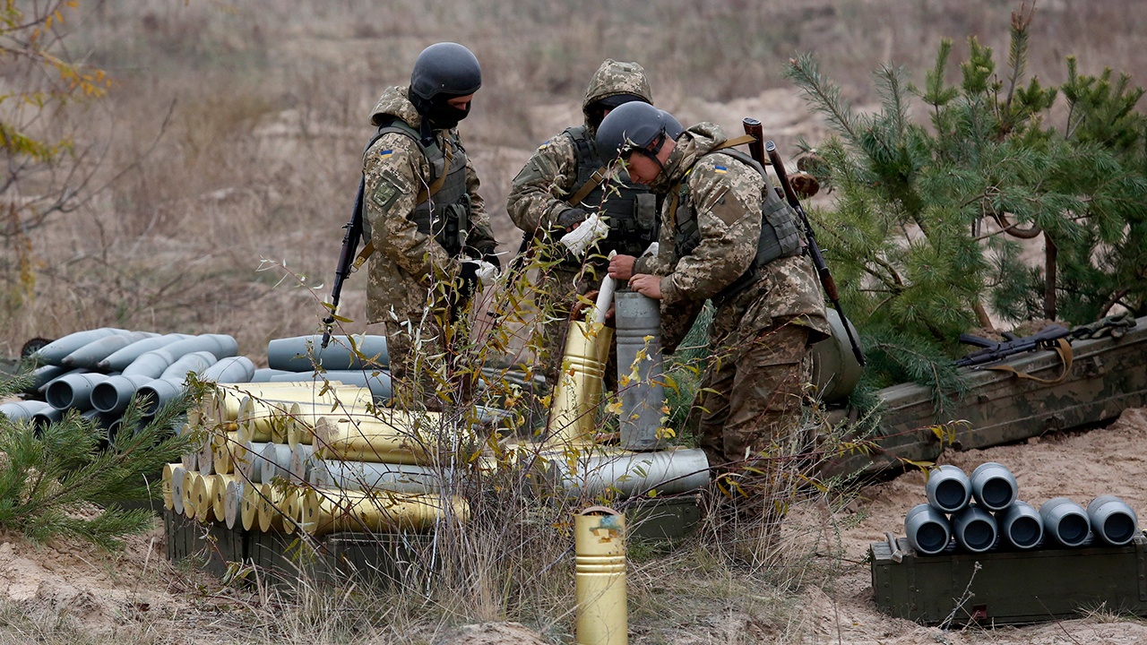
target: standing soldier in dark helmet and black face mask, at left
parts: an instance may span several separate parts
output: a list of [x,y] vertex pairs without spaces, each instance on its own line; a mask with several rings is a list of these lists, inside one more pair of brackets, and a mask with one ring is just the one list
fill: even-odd
[[427,47],[409,86],[388,87],[372,110],[377,132],[362,157],[373,247],[367,322],[385,328],[396,398],[418,397],[429,409],[439,407],[430,372],[450,370],[446,339],[458,336],[450,327],[499,269],[478,177],[455,130],[481,86],[469,49]]

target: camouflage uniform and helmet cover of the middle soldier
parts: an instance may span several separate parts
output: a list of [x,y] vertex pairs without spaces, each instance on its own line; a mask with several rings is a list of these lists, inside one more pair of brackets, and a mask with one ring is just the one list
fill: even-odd
[[[575,208],[570,199],[594,171],[603,166],[596,154],[596,127],[591,117],[591,106],[618,94],[632,94],[653,102],[649,81],[641,65],[607,59],[594,72],[586,90],[582,103],[585,123],[569,127],[539,146],[514,178],[506,202],[514,224],[533,238],[531,252],[543,254],[543,283],[535,297],[544,316],[552,313],[556,320],[539,326],[536,336],[540,335],[540,341],[545,343],[540,348],[546,353],[543,374],[551,383],[565,350],[569,312],[576,296],[601,283],[608,265],[606,256],[610,250],[639,255],[657,239],[654,195],[647,188],[627,181],[610,182],[611,188],[607,193],[607,182],[602,181],[576,204],[586,211],[596,210],[608,217],[610,224],[609,236],[586,252],[587,270],[583,272],[582,259],[564,256],[564,247],[557,243],[564,234],[557,226],[559,217]],[[611,352],[611,357],[616,360],[616,352]],[[607,371],[607,374],[610,373]]]

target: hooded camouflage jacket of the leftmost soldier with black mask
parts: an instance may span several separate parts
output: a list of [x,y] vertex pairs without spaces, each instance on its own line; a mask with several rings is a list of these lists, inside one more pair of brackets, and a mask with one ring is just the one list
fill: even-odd
[[[406,87],[388,87],[370,114],[374,125],[385,116],[419,130],[422,118],[406,96]],[[435,131],[439,146],[457,141],[457,131]],[[430,184],[431,169],[419,143],[400,132],[389,132],[364,155],[362,174],[366,223],[374,243],[367,281],[367,321],[399,320],[440,306],[440,296],[453,288],[460,257],[451,257],[432,235],[419,231],[412,218],[418,194]],[[470,202],[468,255],[481,256],[497,246],[485,203],[478,194],[478,177],[466,164],[466,192]],[[431,295],[437,294],[439,298]]]

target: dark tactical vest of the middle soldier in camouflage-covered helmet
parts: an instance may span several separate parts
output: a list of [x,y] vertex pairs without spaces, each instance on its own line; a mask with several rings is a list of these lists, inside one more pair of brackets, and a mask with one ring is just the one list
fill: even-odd
[[595,182],[593,189],[582,196],[578,204],[594,208],[599,215],[609,218],[607,220],[609,234],[598,242],[594,252],[609,255],[609,251],[616,250],[621,255],[641,255],[646,247],[657,241],[657,232],[661,230],[657,197],[649,192],[649,188],[630,181],[621,185],[610,184],[607,195],[600,176],[594,176],[604,169],[604,164],[598,157],[594,142],[586,133],[586,126],[569,127],[564,134],[574,141],[574,148],[577,150],[578,188],[574,193],[578,194],[582,187],[591,181]]

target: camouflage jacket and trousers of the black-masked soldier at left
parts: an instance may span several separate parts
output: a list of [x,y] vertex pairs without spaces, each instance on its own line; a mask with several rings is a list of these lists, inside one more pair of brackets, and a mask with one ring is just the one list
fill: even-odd
[[[370,122],[376,126],[405,124],[418,132],[422,117],[408,100],[406,87],[388,87],[372,110]],[[457,130],[437,130],[432,134],[439,149],[450,150],[447,156],[454,161],[465,157]],[[467,256],[481,258],[497,246],[469,158],[465,169],[454,164],[451,170],[465,172],[465,186],[461,174],[447,172],[446,182],[453,179],[458,184],[453,191],[460,194],[453,203],[469,204],[461,249],[453,254],[418,224],[418,207],[422,205],[423,211],[429,208],[436,228],[451,216],[451,203],[435,201],[434,196],[428,203],[416,203],[419,193],[429,189],[442,169],[431,169],[415,138],[388,131],[367,148],[362,160],[365,220],[374,246],[367,281],[367,322],[385,326],[395,395],[400,401],[422,398],[415,384],[430,393],[435,382],[446,380],[443,358],[450,356],[447,339],[465,328],[455,331],[451,325],[461,321],[452,320],[452,305],[465,300],[459,294],[460,261]],[[443,187],[438,195],[447,192]],[[418,360],[424,363],[416,365]],[[412,374],[420,375],[418,383],[411,380]],[[438,407],[432,397],[426,397],[426,402],[431,409]]]

